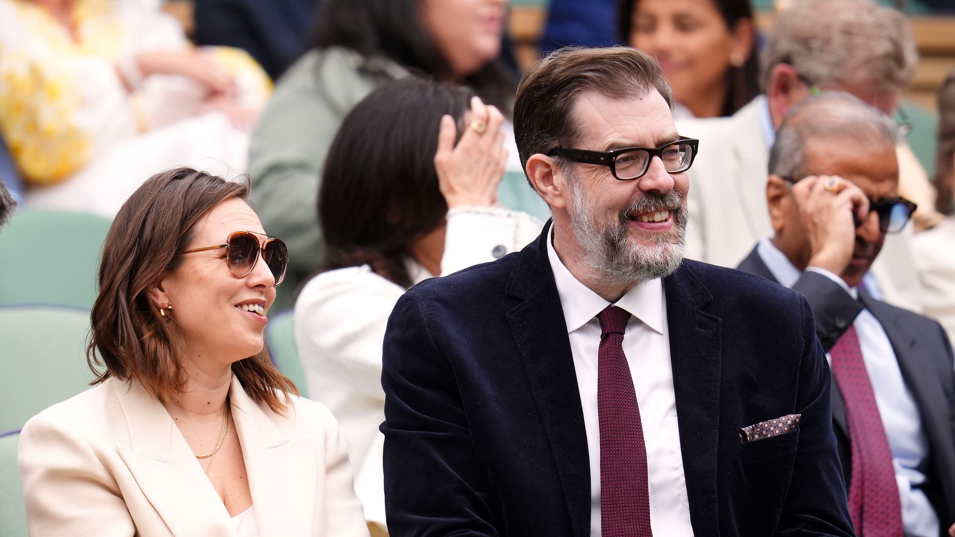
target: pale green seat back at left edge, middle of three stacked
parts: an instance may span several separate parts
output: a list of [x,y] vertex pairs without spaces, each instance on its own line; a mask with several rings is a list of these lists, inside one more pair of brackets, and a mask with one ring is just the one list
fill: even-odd
[[86,366],[90,312],[53,306],[0,308],[3,379],[0,433],[20,429],[53,403],[86,390],[95,378]]

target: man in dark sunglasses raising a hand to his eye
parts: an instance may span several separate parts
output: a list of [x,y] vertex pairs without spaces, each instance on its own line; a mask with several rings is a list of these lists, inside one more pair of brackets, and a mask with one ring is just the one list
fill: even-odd
[[915,210],[898,196],[898,136],[849,94],[797,104],[770,152],[775,236],[739,269],[802,292],[813,308],[857,534],[934,537],[955,522],[951,345],[939,323],[862,284],[885,234]]

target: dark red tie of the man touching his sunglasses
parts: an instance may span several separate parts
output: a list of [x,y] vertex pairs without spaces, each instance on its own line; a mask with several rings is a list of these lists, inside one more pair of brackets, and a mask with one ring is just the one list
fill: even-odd
[[902,505],[892,466],[892,450],[865,371],[856,327],[839,337],[830,351],[833,376],[845,401],[852,443],[849,513],[859,537],[900,537]]

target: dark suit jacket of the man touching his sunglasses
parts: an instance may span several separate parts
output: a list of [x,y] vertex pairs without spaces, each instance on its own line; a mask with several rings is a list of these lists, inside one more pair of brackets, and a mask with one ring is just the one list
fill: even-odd
[[[776,281],[755,249],[739,269]],[[881,324],[922,415],[930,448],[926,467],[922,468],[928,478],[924,490],[939,515],[941,533],[947,536],[948,526],[955,524],[955,365],[942,326],[918,313],[876,300],[864,290],[856,300],[836,282],[815,272],[803,272],[793,290],[805,295],[812,306],[816,333],[827,353],[863,307]],[[845,403],[838,389],[832,391],[832,406],[842,472],[845,483],[851,483],[852,446]]]

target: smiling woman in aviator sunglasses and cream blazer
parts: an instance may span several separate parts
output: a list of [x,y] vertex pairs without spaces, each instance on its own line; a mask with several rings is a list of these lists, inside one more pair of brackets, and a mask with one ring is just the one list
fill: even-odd
[[23,428],[31,533],[367,535],[335,420],[265,353],[288,257],[247,194],[176,168],[119,210],[87,350],[95,386]]

